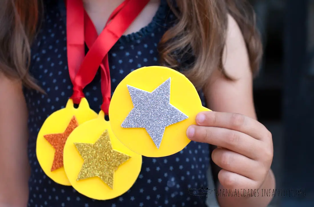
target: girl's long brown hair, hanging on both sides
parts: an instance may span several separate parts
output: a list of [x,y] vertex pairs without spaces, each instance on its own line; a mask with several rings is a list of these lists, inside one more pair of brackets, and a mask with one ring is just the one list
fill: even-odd
[[[2,0],[0,8],[0,73],[20,79],[25,86],[41,90],[28,73],[30,44],[39,22],[41,0]],[[258,70],[262,55],[255,15],[246,0],[180,0],[177,7],[168,0],[178,22],[162,37],[159,44],[160,60],[174,69],[180,69],[178,53],[192,53],[195,58],[185,75],[196,88],[201,88],[215,69],[226,78],[222,64],[225,34],[230,14],[244,36],[251,69]],[[178,8],[178,9],[177,9]],[[173,41],[175,40],[175,41]]]

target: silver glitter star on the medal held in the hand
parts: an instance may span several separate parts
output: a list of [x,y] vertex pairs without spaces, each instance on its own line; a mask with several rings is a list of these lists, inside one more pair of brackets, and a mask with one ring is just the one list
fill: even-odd
[[145,128],[159,149],[165,128],[187,119],[170,103],[170,78],[153,92],[127,85],[134,108],[123,121],[123,128]]

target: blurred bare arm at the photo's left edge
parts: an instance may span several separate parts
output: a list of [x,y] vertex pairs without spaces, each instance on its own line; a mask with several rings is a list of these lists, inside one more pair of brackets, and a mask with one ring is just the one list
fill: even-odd
[[22,84],[0,73],[0,206],[25,207],[30,168]]

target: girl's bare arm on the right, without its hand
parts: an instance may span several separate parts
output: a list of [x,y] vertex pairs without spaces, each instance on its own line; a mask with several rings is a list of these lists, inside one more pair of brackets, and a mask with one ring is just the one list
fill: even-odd
[[[216,71],[211,76],[208,85],[204,88],[204,94],[208,100],[209,109],[213,111],[239,113],[256,119],[252,92],[252,73],[246,45],[236,21],[230,16],[228,19],[228,32],[223,63],[226,73],[236,80],[227,80],[220,72]],[[220,168],[217,165],[212,166],[212,168],[213,175],[218,180]],[[217,188],[226,189],[219,182]],[[245,184],[241,184],[239,188],[245,188]],[[219,196],[217,199],[221,207],[265,207],[272,197],[262,197],[261,189],[274,188],[274,176],[272,171],[269,170],[264,183],[258,191],[258,197]]]

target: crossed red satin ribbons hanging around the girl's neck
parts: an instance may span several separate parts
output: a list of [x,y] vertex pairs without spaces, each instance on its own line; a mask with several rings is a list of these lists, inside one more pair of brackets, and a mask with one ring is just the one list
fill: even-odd
[[[68,68],[73,83],[73,103],[84,97],[83,88],[101,68],[101,110],[108,114],[111,98],[111,80],[108,52],[143,10],[149,0],[125,0],[109,17],[98,36],[95,26],[84,10],[82,0],[67,0],[67,54]],[[84,42],[89,48],[84,55]],[[85,58],[84,58],[85,56]]]

